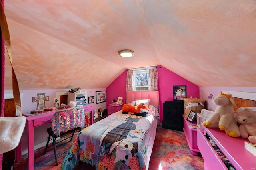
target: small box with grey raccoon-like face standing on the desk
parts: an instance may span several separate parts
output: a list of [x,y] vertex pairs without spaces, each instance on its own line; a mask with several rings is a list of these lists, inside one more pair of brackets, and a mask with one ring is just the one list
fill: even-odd
[[87,92],[86,91],[76,91],[74,93],[68,92],[68,103],[70,101],[75,101],[76,106],[86,105],[88,103]]

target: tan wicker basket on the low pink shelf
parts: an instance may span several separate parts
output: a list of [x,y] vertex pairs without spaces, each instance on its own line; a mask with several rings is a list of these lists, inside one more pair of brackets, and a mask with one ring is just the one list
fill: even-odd
[[187,118],[190,111],[196,111],[196,113],[201,113],[201,110],[204,109],[204,99],[197,98],[184,98],[184,115]]

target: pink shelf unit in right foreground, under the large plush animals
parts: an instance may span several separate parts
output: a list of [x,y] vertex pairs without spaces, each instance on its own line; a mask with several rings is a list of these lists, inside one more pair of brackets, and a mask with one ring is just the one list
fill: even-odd
[[[236,170],[256,169],[256,157],[244,148],[244,141],[248,141],[248,139],[232,138],[219,128],[204,127],[204,133],[207,133],[214,140]],[[214,167],[214,169],[228,170],[206,139],[205,134],[199,129],[197,130],[197,137],[198,148],[204,158],[204,169],[211,170]]]

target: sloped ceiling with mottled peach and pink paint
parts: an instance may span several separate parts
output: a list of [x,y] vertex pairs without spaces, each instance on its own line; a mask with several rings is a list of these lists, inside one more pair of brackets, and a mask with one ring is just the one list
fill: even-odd
[[256,87],[254,0],[4,3],[21,90],[106,88],[124,69],[153,65],[200,87]]

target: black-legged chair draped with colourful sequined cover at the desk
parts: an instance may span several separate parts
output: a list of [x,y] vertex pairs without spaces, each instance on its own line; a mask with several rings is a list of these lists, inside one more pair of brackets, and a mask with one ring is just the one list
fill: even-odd
[[[64,110],[57,111],[52,117],[52,126],[47,128],[48,140],[44,150],[46,154],[50,139],[54,147],[55,164],[58,165],[56,144],[62,142],[68,138],[72,141],[76,130],[82,130],[81,127],[85,126],[85,116],[83,107],[72,107]],[[56,138],[72,133],[72,136],[64,138],[63,140],[56,143]]]

